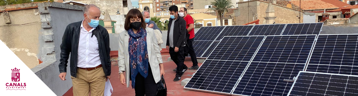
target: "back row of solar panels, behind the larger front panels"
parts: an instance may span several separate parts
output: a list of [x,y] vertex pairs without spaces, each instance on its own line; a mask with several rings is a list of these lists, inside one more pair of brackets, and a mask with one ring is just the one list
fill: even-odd
[[[195,33],[195,41],[211,41],[209,47],[195,51],[198,58],[207,58],[224,36],[269,36],[269,35],[303,35],[319,34],[323,23],[243,25],[202,27]],[[207,43],[205,43],[207,44]],[[194,47],[196,45],[193,45]],[[208,46],[199,44],[199,46]]]

